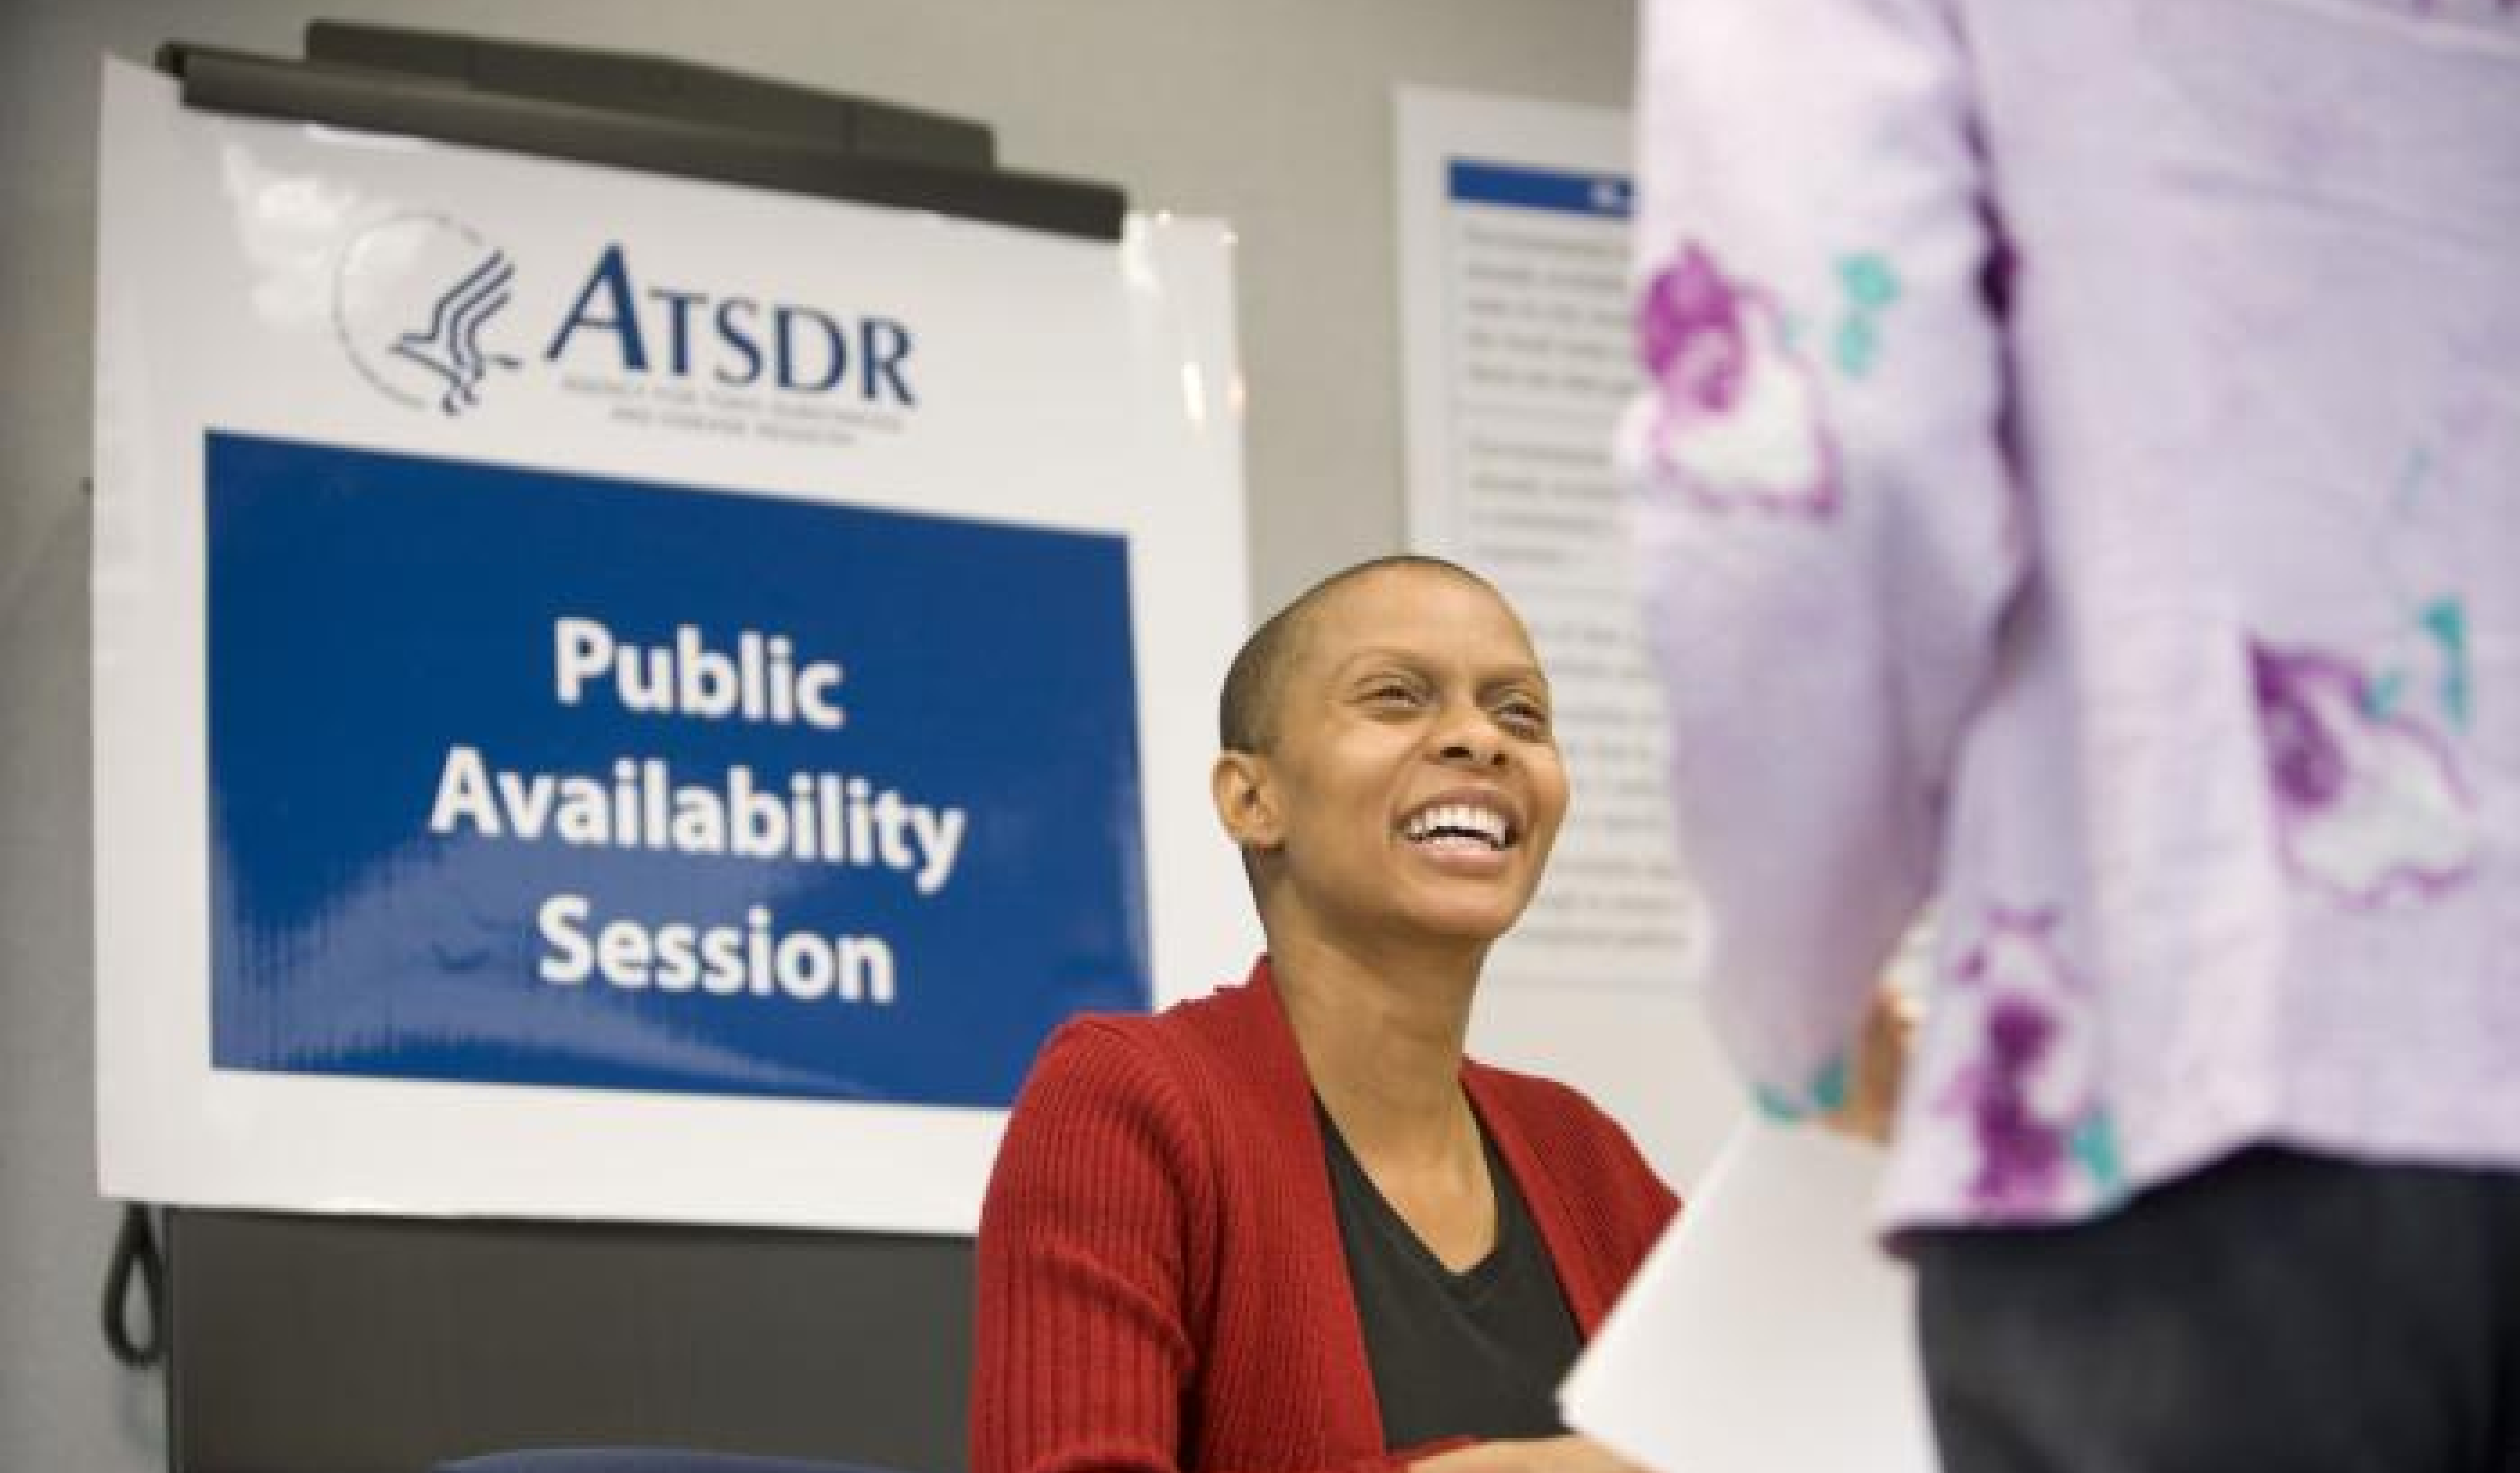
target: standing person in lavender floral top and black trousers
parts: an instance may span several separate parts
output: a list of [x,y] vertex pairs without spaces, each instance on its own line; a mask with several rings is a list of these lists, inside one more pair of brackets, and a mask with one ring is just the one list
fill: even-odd
[[1648,0],[1701,979],[1953,1473],[2520,1470],[2520,3]]

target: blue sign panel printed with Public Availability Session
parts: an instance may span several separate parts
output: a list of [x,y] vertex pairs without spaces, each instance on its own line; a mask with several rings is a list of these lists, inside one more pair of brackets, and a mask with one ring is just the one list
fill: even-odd
[[1147,1009],[1121,537],[212,434],[222,1069],[1005,1105]]

